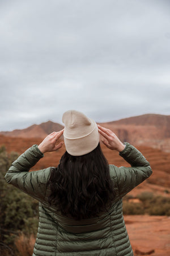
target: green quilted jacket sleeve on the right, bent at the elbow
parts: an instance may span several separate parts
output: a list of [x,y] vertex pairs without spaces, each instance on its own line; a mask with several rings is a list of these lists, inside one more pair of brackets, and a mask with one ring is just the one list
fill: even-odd
[[113,165],[110,167],[111,173],[114,173],[114,180],[117,180],[118,197],[125,196],[126,193],[130,192],[134,187],[137,187],[137,185],[152,174],[150,163],[142,153],[128,142],[126,142],[125,145],[124,150],[120,152],[120,156],[122,156],[131,167],[116,167]]

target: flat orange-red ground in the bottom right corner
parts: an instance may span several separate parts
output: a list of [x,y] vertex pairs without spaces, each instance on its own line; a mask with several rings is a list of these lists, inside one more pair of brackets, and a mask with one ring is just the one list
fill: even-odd
[[170,217],[124,216],[134,255],[170,255]]

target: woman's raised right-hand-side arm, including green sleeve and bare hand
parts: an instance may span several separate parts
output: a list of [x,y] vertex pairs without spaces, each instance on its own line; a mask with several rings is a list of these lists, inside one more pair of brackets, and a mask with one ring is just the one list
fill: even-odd
[[104,137],[105,146],[111,150],[117,150],[120,156],[131,165],[131,167],[110,165],[111,178],[117,180],[117,196],[123,197],[152,174],[150,163],[137,148],[127,142],[123,144],[111,130],[99,126],[99,132]]

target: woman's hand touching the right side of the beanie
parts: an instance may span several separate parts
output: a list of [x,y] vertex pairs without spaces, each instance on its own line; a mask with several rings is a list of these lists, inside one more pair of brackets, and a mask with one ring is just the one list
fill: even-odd
[[100,125],[97,125],[99,128],[99,133],[104,137],[101,141],[111,150],[117,150],[121,152],[124,150],[125,145],[118,139],[116,134],[113,133],[110,129],[104,128]]

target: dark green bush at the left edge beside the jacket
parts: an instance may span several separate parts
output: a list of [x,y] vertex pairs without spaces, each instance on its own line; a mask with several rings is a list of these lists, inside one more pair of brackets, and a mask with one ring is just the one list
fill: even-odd
[[0,254],[3,256],[14,255],[12,252],[16,249],[14,241],[21,233],[27,234],[28,237],[37,233],[38,202],[7,184],[4,179],[8,168],[16,158],[18,158],[16,152],[7,154],[5,147],[0,147]]

